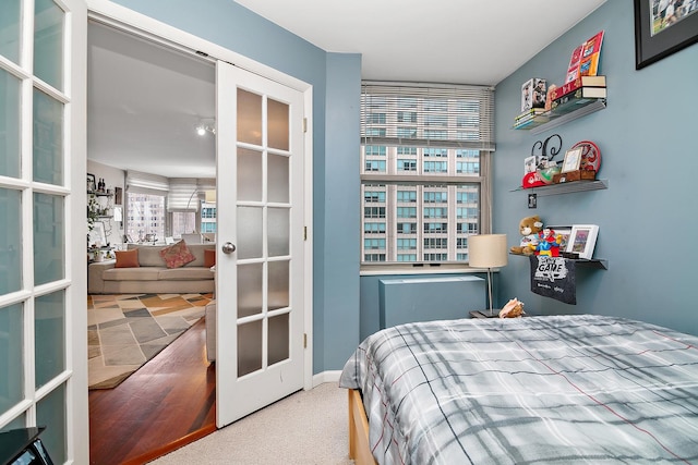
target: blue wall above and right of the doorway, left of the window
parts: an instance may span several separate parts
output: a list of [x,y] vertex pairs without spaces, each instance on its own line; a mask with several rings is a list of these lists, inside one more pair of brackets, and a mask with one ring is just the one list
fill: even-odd
[[360,57],[328,54],[230,0],[115,3],[313,86],[313,372],[340,369],[359,342]]

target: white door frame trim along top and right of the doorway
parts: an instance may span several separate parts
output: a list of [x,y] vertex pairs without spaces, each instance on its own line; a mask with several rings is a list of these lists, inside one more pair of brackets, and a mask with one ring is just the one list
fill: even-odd
[[236,66],[275,81],[303,94],[303,113],[306,120],[303,138],[303,175],[305,179],[303,205],[305,209],[304,224],[306,236],[304,241],[303,259],[303,326],[306,334],[306,346],[303,354],[303,389],[313,388],[313,87],[311,84],[289,76],[278,70],[256,62],[230,49],[205,40],[193,34],[161,23],[144,14],[108,0],[86,0],[87,16],[91,20],[117,27],[135,36],[146,37],[158,44],[166,44],[186,53],[194,53],[198,58],[202,53],[215,63],[216,60],[233,63]]

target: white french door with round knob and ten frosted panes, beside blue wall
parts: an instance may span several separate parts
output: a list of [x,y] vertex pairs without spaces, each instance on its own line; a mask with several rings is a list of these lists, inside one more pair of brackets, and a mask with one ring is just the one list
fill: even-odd
[[303,94],[217,62],[219,428],[303,388]]

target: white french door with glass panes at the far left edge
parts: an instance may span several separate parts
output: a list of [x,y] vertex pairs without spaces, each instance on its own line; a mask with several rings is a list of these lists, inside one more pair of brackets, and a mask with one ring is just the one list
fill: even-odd
[[0,7],[0,431],[87,463],[83,0]]

